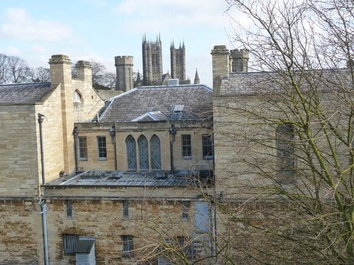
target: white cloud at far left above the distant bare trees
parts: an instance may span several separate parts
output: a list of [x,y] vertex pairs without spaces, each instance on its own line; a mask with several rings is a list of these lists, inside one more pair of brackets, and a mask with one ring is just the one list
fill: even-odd
[[55,42],[72,36],[69,25],[49,20],[35,20],[23,8],[8,8],[6,22],[0,27],[0,37],[21,41]]

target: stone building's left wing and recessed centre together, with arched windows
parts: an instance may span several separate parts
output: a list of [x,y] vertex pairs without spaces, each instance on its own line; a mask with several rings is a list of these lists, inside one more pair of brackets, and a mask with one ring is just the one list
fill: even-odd
[[212,252],[199,192],[212,184],[212,90],[142,87],[104,104],[86,61],[77,79],[68,57],[49,63],[51,83],[0,86],[0,264]]

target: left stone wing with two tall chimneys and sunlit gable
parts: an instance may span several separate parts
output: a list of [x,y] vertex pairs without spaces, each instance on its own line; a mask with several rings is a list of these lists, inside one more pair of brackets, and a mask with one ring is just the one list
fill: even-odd
[[49,63],[50,83],[0,86],[0,264],[42,264],[41,185],[75,172],[73,124],[103,106],[88,62],[76,79],[67,56]]

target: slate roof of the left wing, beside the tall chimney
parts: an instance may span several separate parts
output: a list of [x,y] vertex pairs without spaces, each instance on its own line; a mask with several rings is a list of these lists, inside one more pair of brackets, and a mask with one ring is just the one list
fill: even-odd
[[50,90],[50,82],[0,85],[0,105],[34,105]]

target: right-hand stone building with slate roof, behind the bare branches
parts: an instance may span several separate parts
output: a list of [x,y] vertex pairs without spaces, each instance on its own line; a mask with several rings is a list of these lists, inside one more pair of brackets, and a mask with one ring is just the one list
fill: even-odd
[[247,60],[212,49],[220,261],[350,264],[334,198],[353,205],[353,69],[239,71]]

